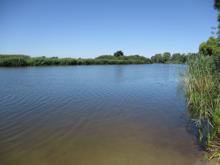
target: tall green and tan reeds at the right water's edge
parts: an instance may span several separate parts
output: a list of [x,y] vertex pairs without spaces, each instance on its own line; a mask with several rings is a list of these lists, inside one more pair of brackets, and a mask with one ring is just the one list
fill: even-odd
[[220,89],[213,57],[198,55],[188,61],[184,76],[188,109],[198,128],[199,142],[212,157],[220,155]]

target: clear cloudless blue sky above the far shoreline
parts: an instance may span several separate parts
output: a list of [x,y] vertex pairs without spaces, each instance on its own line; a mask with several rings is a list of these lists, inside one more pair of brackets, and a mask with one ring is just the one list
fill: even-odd
[[196,52],[216,15],[213,0],[0,0],[0,54]]

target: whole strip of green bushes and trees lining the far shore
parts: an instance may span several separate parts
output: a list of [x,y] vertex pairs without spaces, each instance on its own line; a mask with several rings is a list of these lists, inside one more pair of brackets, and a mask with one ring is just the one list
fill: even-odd
[[157,54],[151,59],[140,55],[125,56],[122,51],[114,55],[102,55],[96,58],[58,58],[58,57],[30,57],[26,55],[0,55],[0,66],[50,66],[50,65],[105,65],[105,64],[152,64],[174,63],[183,64],[194,54],[170,53]]

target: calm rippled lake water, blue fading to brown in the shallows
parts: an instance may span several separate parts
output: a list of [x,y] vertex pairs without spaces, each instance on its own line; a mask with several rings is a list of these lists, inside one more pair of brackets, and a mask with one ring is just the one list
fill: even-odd
[[1,165],[193,165],[182,65],[0,68]]

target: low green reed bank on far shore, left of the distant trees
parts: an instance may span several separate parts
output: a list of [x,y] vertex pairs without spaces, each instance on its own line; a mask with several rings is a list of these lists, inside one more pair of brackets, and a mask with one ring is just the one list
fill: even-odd
[[139,56],[103,55],[95,59],[29,57],[17,55],[0,56],[0,66],[50,66],[50,65],[101,65],[101,64],[150,64],[150,59]]

